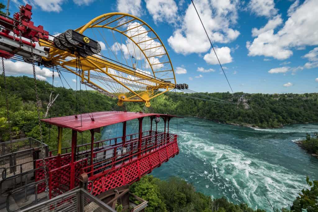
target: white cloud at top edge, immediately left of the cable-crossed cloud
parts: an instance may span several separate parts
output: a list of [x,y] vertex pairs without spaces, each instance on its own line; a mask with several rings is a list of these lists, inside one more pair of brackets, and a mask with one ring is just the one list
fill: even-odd
[[174,0],[145,0],[146,7],[155,23],[166,21],[175,23],[178,7]]

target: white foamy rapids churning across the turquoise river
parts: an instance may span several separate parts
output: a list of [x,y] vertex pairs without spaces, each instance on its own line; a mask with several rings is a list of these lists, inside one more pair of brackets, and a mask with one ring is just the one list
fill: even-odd
[[[287,207],[305,186],[304,176],[266,161],[246,157],[238,149],[210,144],[204,139],[189,139],[184,135],[183,140],[186,141],[180,141],[180,146],[185,154],[193,154],[191,150],[195,149],[195,157],[210,165],[210,171],[202,174],[211,181],[206,188],[217,187],[219,193],[225,196],[230,191],[231,199],[237,202],[246,202],[254,208],[268,208],[267,197],[273,206]],[[255,205],[255,202],[262,204]]]

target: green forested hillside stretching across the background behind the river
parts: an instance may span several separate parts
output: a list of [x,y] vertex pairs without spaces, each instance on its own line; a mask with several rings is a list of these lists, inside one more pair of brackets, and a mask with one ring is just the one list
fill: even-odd
[[[38,137],[36,97],[32,78],[7,77],[6,89],[0,78],[0,133],[1,140],[8,140],[8,122],[5,94],[8,94],[10,127],[13,137]],[[38,91],[42,106],[42,118],[46,112],[52,85],[38,81]],[[63,87],[53,87],[53,96],[59,94],[48,117],[64,116],[94,111],[125,110],[142,111],[143,103],[128,103],[124,108],[116,106],[116,100],[96,91],[74,91]],[[284,124],[318,122],[318,93],[306,94],[247,94],[247,93],[205,93],[211,97],[224,99],[234,104],[223,104],[185,96],[200,97],[197,94],[169,92],[151,101],[152,110],[157,113],[171,113],[197,116],[228,124],[251,125],[257,127],[279,127]],[[205,99],[209,99],[205,97]],[[80,104],[81,102],[81,104]],[[44,126],[44,134],[47,135]],[[55,133],[53,130],[52,133]],[[88,134],[87,134],[88,135]],[[66,136],[67,137],[67,136]]]

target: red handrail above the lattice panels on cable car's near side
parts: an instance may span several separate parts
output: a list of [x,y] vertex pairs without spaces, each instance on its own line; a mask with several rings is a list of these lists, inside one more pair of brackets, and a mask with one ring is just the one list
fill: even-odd
[[[129,152],[126,152],[125,154],[129,154],[129,156],[127,156],[127,157],[123,157],[123,158],[120,158],[119,160],[116,160],[117,158],[121,157],[122,155],[115,155],[114,157],[111,158],[113,162],[110,163],[110,164],[107,164],[107,165],[105,165],[105,166],[101,166],[101,167],[99,167],[99,168],[94,169],[94,166],[100,165],[100,164],[103,163],[103,161],[100,161],[100,162],[98,162],[98,163],[94,163],[94,164],[91,164],[91,165],[89,165],[89,166],[86,166],[86,167],[82,168],[82,171],[83,171],[83,172],[86,172],[87,174],[93,174],[93,172],[98,171],[98,170],[101,170],[101,169],[104,169],[104,168],[106,168],[106,167],[114,167],[114,164],[119,163],[119,162],[121,162],[121,161],[123,161],[123,160],[126,160],[127,158],[129,158],[129,161],[131,161],[131,160],[132,160],[132,157],[134,157],[134,156],[136,156],[136,155],[138,155],[138,154],[141,154],[142,151],[143,151],[143,152],[146,152],[146,151],[149,151],[149,150],[151,151],[152,149],[155,149],[155,148],[157,148],[157,147],[161,148],[161,147],[164,147],[165,145],[167,145],[167,144],[169,144],[169,143],[176,142],[176,140],[175,140],[175,137],[177,136],[176,134],[170,134],[170,133],[165,133],[165,134],[168,135],[168,136],[167,136],[168,138],[169,138],[169,135],[174,135],[174,139],[170,140],[170,139],[167,139],[167,137],[166,137],[166,138],[164,138],[164,139],[165,139],[164,142],[166,142],[166,143],[164,143],[163,145],[162,145],[162,142],[160,142],[159,144],[156,144],[156,145],[153,145],[152,143],[151,143],[151,144],[148,144],[148,145],[144,145],[144,146],[142,146],[141,148],[132,149],[132,150],[130,150]],[[154,135],[154,136],[155,136],[155,135]],[[145,148],[145,147],[148,147],[148,146],[151,146],[151,147]],[[130,155],[130,153],[133,153],[133,151],[135,152],[136,150],[137,150],[136,153]],[[105,150],[105,151],[106,151],[106,150]],[[144,157],[144,156],[145,156],[145,155],[141,155],[141,157]],[[88,171],[88,170],[90,170],[90,171]],[[108,172],[111,171],[111,170],[112,170],[112,168],[110,168],[110,169],[108,170]],[[105,171],[105,170],[104,170],[104,171]],[[103,171],[103,173],[104,173],[104,171]],[[108,172],[107,172],[107,173],[108,173]]]

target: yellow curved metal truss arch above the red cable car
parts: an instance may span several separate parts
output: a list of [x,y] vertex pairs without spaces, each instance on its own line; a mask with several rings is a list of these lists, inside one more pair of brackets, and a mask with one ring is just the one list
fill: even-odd
[[[176,77],[168,51],[157,33],[147,23],[133,15],[113,12],[95,17],[75,31],[86,35],[87,29],[95,28],[108,29],[125,36],[142,53],[139,59],[142,57],[147,61],[151,72],[137,70],[135,67],[125,66],[97,55],[79,57],[83,72],[77,72],[74,69],[78,63],[77,55],[54,47],[50,41],[41,40],[41,46],[51,48],[51,57],[43,58],[43,60],[50,60],[54,65],[59,65],[78,75],[82,83],[93,89],[118,98],[120,105],[124,101],[142,101],[146,106],[150,106],[150,99],[175,88]],[[70,57],[71,59],[67,59]],[[111,80],[122,89],[119,88],[120,92],[106,89],[92,80],[93,76],[96,76],[92,72],[98,73],[106,80]]]

